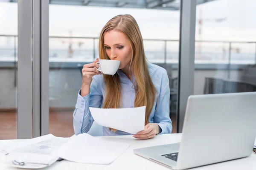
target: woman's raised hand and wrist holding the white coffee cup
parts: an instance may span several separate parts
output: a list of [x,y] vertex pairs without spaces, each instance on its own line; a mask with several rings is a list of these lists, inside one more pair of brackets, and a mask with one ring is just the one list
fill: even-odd
[[99,68],[99,59],[96,59],[93,63],[85,64],[82,69],[82,88],[81,88],[81,96],[86,96],[90,92],[90,84],[93,81],[94,75],[102,74],[97,70]]

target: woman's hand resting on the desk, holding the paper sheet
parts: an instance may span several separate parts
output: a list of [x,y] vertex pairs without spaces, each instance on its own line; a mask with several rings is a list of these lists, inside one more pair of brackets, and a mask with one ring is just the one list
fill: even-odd
[[148,123],[145,125],[144,130],[136,133],[133,137],[138,139],[150,139],[156,136],[160,131],[159,125],[157,123]]

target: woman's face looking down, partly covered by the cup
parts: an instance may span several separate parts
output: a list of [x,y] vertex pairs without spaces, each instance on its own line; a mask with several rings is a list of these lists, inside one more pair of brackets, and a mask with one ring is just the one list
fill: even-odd
[[120,61],[119,69],[131,62],[131,45],[121,31],[108,31],[104,35],[104,46],[108,57]]

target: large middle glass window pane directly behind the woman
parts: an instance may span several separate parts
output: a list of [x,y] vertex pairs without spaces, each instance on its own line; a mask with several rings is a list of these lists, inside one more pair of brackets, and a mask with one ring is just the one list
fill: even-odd
[[156,2],[113,5],[88,1],[81,6],[54,1],[49,5],[49,133],[74,134],[73,111],[81,88],[81,68],[98,58],[100,31],[118,14],[131,14],[137,20],[148,61],[168,73],[169,116],[172,133],[176,133],[180,2]]

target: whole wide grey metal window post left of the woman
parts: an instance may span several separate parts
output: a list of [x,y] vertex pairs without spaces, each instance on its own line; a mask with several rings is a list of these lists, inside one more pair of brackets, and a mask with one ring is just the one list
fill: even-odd
[[49,0],[18,0],[17,138],[49,133]]

